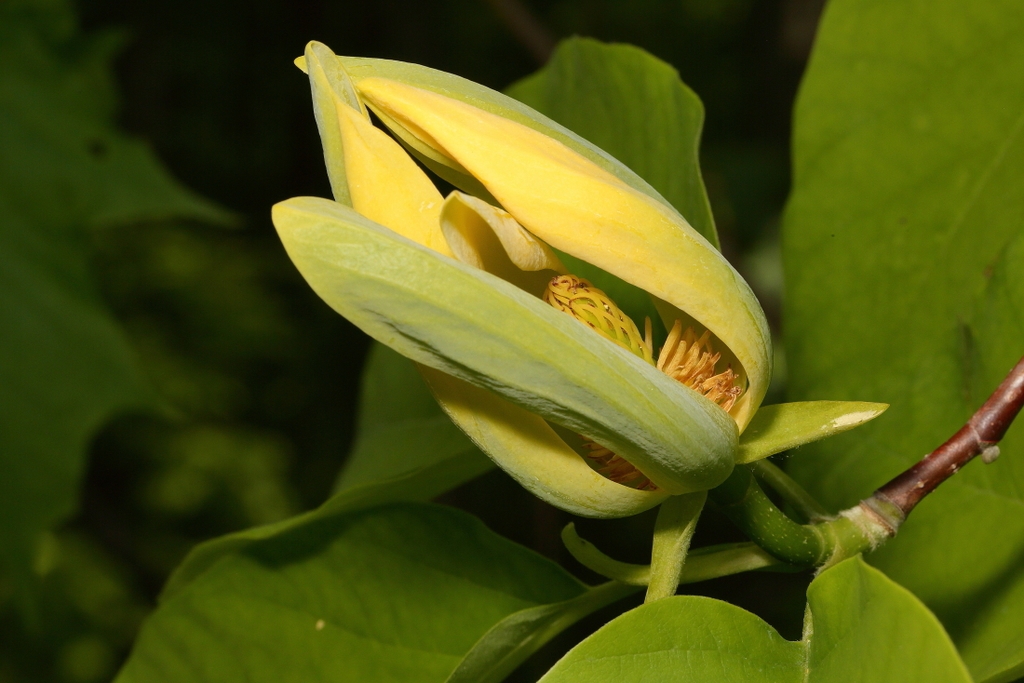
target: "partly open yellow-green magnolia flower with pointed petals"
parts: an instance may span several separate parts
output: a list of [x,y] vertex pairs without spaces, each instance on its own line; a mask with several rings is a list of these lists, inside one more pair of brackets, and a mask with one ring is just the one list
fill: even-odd
[[[736,462],[770,455],[780,438],[788,447],[881,412],[860,404],[860,417],[850,418],[850,404],[822,403],[808,420],[807,411],[790,410],[780,423],[788,431],[780,436],[769,420],[752,428],[754,447],[744,449],[738,435],[771,373],[764,313],[656,191],[557,124],[469,81],[339,58],[317,43],[298,63],[309,76],[337,201],[274,207],[289,255],[336,310],[420,364],[449,416],[539,497],[585,516],[634,514],[721,483]],[[368,108],[465,194],[442,198],[374,127]],[[555,250],[648,292],[673,329],[670,342],[683,349],[658,366],[683,373],[689,349],[703,364],[696,375],[686,371],[700,390],[659,372],[649,333],[641,339],[598,290],[588,290],[588,301],[601,301],[595,310],[611,316],[601,313],[611,326],[603,335],[593,315],[545,303],[547,292],[573,310],[549,291],[556,275],[571,274]],[[708,335],[683,339],[682,327]],[[718,354],[728,371],[712,377]]]

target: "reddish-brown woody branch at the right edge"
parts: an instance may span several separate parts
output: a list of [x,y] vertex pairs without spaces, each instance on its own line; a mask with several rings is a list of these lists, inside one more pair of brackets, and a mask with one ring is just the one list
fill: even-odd
[[[976,456],[990,463],[999,455],[998,443],[1024,405],[1024,358],[1014,367],[985,404],[967,424],[916,465],[874,492],[864,501],[876,513],[898,510],[905,518],[936,486],[956,474]],[[892,508],[895,507],[896,510]],[[896,521],[898,525],[899,521]],[[893,529],[895,531],[895,528]]]

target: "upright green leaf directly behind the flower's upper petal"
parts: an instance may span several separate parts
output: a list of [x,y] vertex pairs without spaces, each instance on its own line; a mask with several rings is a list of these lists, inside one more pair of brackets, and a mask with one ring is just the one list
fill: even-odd
[[[547,66],[507,89],[626,164],[718,247],[697,153],[703,105],[670,65],[632,45],[569,38]],[[605,291],[640,328],[662,317],[650,296],[585,261],[559,253],[573,273]]]

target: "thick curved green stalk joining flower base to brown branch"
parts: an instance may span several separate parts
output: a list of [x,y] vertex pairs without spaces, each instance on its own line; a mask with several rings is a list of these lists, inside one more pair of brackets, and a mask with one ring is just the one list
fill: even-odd
[[711,498],[751,540],[791,564],[829,566],[879,543],[870,526],[852,514],[816,524],[795,522],[765,496],[746,466],[736,467]]

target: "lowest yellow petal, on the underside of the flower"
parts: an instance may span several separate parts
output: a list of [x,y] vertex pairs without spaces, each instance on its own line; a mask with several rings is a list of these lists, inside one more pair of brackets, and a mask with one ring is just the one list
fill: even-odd
[[502,469],[538,498],[582,517],[634,515],[669,495],[609,481],[542,418],[451,375],[420,367],[449,417]]

